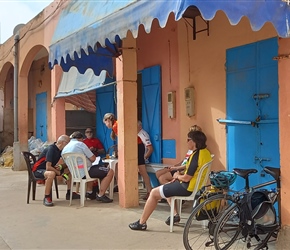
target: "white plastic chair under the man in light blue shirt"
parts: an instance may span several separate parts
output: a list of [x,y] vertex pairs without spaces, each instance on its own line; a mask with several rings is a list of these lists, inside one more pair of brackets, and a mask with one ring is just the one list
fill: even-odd
[[[74,182],[80,184],[80,203],[81,207],[84,207],[85,205],[85,198],[86,198],[86,184],[90,181],[95,181],[97,178],[91,178],[88,172],[88,166],[87,166],[87,160],[86,156],[84,154],[77,154],[77,153],[66,153],[62,155],[63,160],[65,161],[66,165],[69,168],[69,171],[71,173],[71,188],[70,188],[70,201],[69,205],[71,205],[72,202],[72,190],[73,190],[73,184]],[[83,177],[80,174],[80,169],[78,167],[78,159],[81,159],[83,164],[83,170],[85,172],[86,178],[83,179]]]

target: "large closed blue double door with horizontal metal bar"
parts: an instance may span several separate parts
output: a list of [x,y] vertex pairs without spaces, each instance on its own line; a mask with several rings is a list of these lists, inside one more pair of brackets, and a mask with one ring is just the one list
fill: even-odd
[[[226,53],[228,169],[255,168],[255,185],[272,178],[263,167],[280,167],[278,131],[277,38],[232,49]],[[235,188],[244,187],[241,178]]]

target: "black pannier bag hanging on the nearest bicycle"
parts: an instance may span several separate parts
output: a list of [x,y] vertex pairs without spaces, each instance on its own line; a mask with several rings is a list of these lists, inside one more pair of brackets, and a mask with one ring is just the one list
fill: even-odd
[[277,229],[276,213],[269,191],[257,190],[244,195],[240,201],[240,222],[243,236],[266,234]]

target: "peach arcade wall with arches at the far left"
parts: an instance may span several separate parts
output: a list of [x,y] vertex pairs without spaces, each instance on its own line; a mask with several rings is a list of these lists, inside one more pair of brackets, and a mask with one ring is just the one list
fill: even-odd
[[[54,141],[58,135],[64,133],[65,125],[64,125],[64,102],[58,102],[58,114],[62,119],[58,119],[58,124],[56,125],[56,119],[59,116],[54,115],[55,113],[55,106],[51,107],[51,99],[55,94],[58,82],[55,82],[58,73],[57,70],[49,71],[45,73],[44,80],[42,84],[38,84],[39,76],[35,75],[34,73],[30,72],[31,66],[33,65],[33,61],[37,61],[40,58],[44,57],[47,64],[47,55],[49,45],[51,43],[51,38],[57,24],[59,13],[61,12],[64,5],[67,1],[54,1],[51,3],[47,8],[45,8],[41,13],[39,13],[34,19],[28,22],[24,27],[19,30],[19,78],[18,78],[18,138],[16,139],[17,142],[13,143],[13,150],[14,150],[14,170],[22,170],[25,169],[25,163],[23,158],[20,155],[20,151],[27,150],[27,141],[31,133],[27,133],[28,131],[35,129],[35,107],[32,107],[34,100],[31,100],[30,93],[33,92],[34,85],[41,87],[45,87],[49,89],[49,84],[51,84],[51,95],[48,95],[48,140]],[[4,86],[6,78],[8,76],[8,71],[13,68],[14,66],[14,36],[9,38],[3,45],[0,45],[0,58],[4,58],[4,60],[0,61],[0,86]],[[43,55],[43,52],[44,53]],[[56,68],[56,67],[55,67]],[[49,73],[50,72],[50,73]],[[49,78],[49,74],[51,74],[51,78]],[[36,78],[36,80],[34,79]],[[35,81],[37,81],[35,83]],[[47,85],[46,85],[47,84]],[[35,89],[35,93],[37,89]],[[29,102],[30,99],[30,102]],[[13,111],[13,110],[11,110]],[[63,111],[63,112],[62,112]],[[50,115],[50,112],[52,115]],[[7,113],[7,112],[6,112]],[[10,122],[7,124],[9,128],[13,129],[14,132],[14,125],[13,125],[13,114],[7,113],[5,114],[5,119],[7,117],[10,119]],[[33,122],[31,122],[33,120]],[[0,137],[2,135],[0,134]],[[13,138],[14,135],[11,134]],[[14,138],[13,138],[14,141]]]

